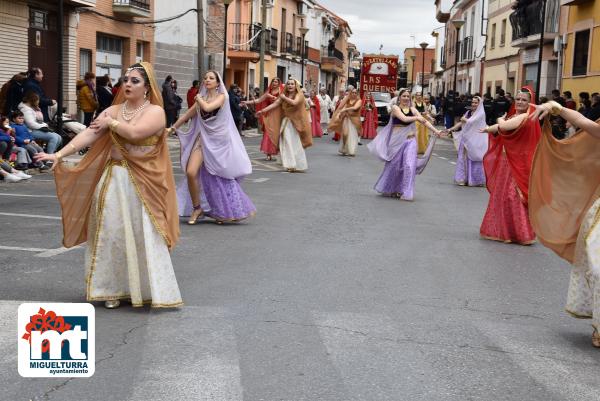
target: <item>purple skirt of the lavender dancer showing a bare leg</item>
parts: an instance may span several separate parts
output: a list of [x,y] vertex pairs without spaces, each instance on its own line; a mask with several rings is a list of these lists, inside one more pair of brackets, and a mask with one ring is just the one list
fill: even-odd
[[200,177],[202,190],[208,202],[208,216],[220,221],[235,221],[246,219],[256,212],[256,207],[238,180],[212,175],[204,164],[200,168]]

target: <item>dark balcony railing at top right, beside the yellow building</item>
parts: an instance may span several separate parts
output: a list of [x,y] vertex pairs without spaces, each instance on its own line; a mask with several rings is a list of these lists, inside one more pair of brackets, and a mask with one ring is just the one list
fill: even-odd
[[[534,0],[526,5],[519,6],[510,14],[512,25],[512,40],[526,39],[542,32],[542,0]],[[547,0],[545,33],[558,33],[560,17],[560,0]]]

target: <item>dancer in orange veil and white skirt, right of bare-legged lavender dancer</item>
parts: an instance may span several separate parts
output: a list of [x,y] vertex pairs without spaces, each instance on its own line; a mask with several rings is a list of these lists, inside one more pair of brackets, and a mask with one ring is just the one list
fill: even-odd
[[304,149],[312,145],[312,135],[300,82],[288,80],[279,98],[257,114],[264,114],[271,140],[279,146],[283,167],[290,173],[308,169]]

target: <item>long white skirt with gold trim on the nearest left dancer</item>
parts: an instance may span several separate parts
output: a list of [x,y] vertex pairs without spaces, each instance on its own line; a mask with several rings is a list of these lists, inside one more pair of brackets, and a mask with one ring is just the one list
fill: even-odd
[[107,167],[96,187],[86,252],[88,301],[133,306],[183,304],[165,239],[152,223],[126,167]]

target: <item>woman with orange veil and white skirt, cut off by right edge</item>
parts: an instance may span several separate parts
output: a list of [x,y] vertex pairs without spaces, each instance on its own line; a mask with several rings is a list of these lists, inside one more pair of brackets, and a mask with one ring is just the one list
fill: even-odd
[[600,120],[554,101],[537,106],[532,119],[549,113],[580,131],[557,140],[545,121],[531,169],[529,216],[540,242],[573,265],[566,310],[592,319],[592,345],[600,347]]

